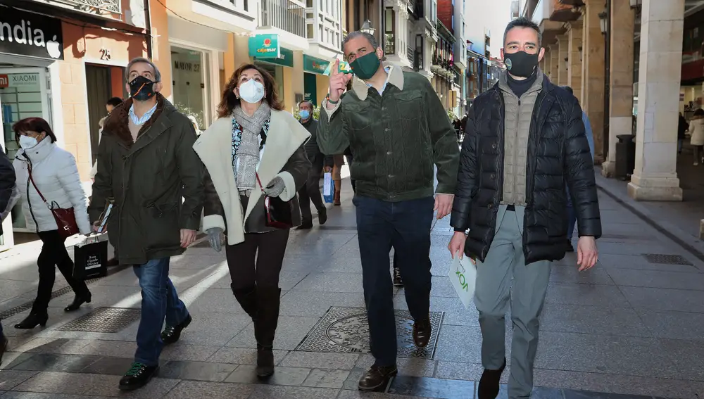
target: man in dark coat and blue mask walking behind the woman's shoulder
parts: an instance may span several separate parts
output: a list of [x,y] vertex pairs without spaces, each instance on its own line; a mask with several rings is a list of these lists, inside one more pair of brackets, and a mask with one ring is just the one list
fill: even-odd
[[325,155],[318,148],[318,141],[315,139],[316,131],[318,130],[318,121],[313,118],[313,103],[308,100],[303,100],[298,103],[298,115],[301,116],[301,125],[308,130],[310,139],[306,142],[306,156],[310,161],[310,172],[306,184],[303,184],[298,190],[298,201],[301,203],[301,219],[302,223],[298,229],[312,229],[313,215],[310,213],[310,202],[313,202],[315,209],[318,210],[318,222],[325,224],[327,222],[327,208],[322,201],[320,194],[320,172],[325,165]]

